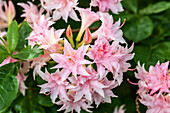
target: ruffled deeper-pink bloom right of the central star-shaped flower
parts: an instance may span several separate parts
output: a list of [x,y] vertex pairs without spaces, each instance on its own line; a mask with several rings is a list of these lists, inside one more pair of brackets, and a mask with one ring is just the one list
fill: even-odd
[[114,80],[117,80],[120,85],[123,72],[126,72],[130,67],[127,61],[134,57],[134,54],[129,54],[132,50],[133,45],[130,49],[127,49],[127,46],[125,48],[120,46],[118,41],[114,41],[110,45],[104,36],[99,36],[88,52],[88,56],[97,64],[97,71],[100,75],[106,68],[113,73]]

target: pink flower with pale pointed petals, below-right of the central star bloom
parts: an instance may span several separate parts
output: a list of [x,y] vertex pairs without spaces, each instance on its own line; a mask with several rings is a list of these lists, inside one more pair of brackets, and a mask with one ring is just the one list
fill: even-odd
[[[114,94],[112,93],[111,90],[107,90],[111,85],[111,82],[106,79],[107,71],[104,73],[102,78],[100,78],[99,74],[91,68],[91,65],[87,67],[87,72],[90,74],[90,76],[79,76],[77,79],[74,77],[70,77],[69,80],[72,84],[77,84],[76,87],[73,89],[73,91],[76,91],[75,96],[74,96],[74,102],[79,101],[82,98],[87,99],[88,101],[93,101],[92,94],[97,93],[99,97],[102,97],[105,99],[105,96],[113,96]],[[104,92],[106,91],[106,92]],[[108,94],[107,91],[111,95],[106,95]],[[94,96],[94,98],[97,98]],[[102,100],[100,100],[101,102]]]

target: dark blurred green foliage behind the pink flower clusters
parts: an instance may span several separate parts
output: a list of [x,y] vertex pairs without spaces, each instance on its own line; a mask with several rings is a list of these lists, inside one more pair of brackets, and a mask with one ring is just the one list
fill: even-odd
[[[16,20],[20,23],[24,18],[20,15],[23,13],[22,8],[17,6],[19,2],[27,2],[28,0],[12,0],[16,7]],[[79,6],[83,8],[89,7],[90,0],[79,0]],[[39,0],[35,0],[34,4],[39,4]],[[129,46],[134,42],[134,60],[130,61],[132,69],[136,67],[137,62],[145,63],[148,70],[150,65],[155,65],[158,61],[170,61],[170,1],[169,0],[123,0],[124,12],[118,15],[113,14],[114,21],[119,18],[126,19],[125,25],[122,27],[125,40]],[[96,11],[96,8],[92,8]],[[63,20],[56,22],[54,27],[67,28],[71,25],[72,29],[80,28],[80,22],[75,22],[69,19],[68,23]],[[94,23],[91,27],[99,27],[100,22]],[[24,30],[24,29],[23,29]],[[77,32],[74,33],[76,37]],[[47,68],[54,64],[48,63]],[[30,74],[32,72],[30,71]],[[28,74],[29,75],[29,74]],[[136,113],[136,105],[139,105],[141,113],[145,113],[146,107],[136,102],[137,86],[131,85],[127,79],[132,82],[137,82],[134,77],[134,72],[129,71],[124,73],[124,81],[121,86],[115,88],[113,92],[118,98],[112,98],[112,103],[102,103],[98,108],[92,109],[94,113],[113,113],[115,106],[125,104],[126,113]],[[34,81],[32,76],[29,76],[26,81],[28,90],[25,97],[18,94],[17,98],[9,107],[9,113],[56,113],[60,107],[53,105],[49,96],[39,94],[40,88],[37,84],[43,84],[44,81],[37,77]],[[63,111],[62,111],[63,112]],[[61,113],[62,113],[61,112]],[[81,113],[86,113],[81,111]]]

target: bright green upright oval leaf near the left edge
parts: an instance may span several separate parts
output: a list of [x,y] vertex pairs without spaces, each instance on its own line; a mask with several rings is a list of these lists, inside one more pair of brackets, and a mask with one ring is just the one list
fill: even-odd
[[14,20],[8,27],[7,32],[7,44],[9,49],[13,52],[18,44],[19,33],[18,33],[18,23]]

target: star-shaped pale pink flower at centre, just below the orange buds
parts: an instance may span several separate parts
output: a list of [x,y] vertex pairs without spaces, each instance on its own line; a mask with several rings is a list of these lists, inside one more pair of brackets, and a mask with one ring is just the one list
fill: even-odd
[[62,80],[66,80],[69,74],[72,74],[77,78],[77,74],[89,76],[84,64],[91,64],[92,62],[85,60],[84,55],[89,46],[82,45],[78,50],[74,50],[67,40],[64,40],[64,55],[59,53],[50,54],[51,58],[58,63],[53,68],[63,68]]

